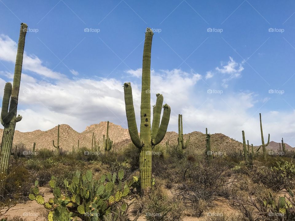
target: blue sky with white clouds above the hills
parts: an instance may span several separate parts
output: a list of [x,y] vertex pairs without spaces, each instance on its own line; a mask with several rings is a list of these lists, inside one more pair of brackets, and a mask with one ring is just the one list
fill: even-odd
[[139,117],[151,27],[151,93],[171,106],[168,130],[182,113],[185,133],[208,127],[241,141],[245,130],[258,145],[262,113],[265,139],[295,146],[294,1],[1,0],[0,16],[2,88],[12,80],[19,23],[30,28],[20,131],[66,123],[81,132],[106,120],[126,128],[122,84],[134,85]]

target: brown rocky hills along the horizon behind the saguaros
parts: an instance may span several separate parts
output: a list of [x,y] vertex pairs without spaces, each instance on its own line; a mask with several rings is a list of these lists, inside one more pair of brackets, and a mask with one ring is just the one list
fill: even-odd
[[[100,122],[99,124],[93,124],[88,126],[82,133],[75,131],[69,125],[61,124],[60,125],[60,147],[63,150],[72,150],[72,146],[75,147],[78,144],[78,139],[80,139],[80,147],[91,147],[92,142],[92,133],[96,136],[96,139],[99,139],[99,142],[103,142],[103,135],[106,134],[107,122]],[[3,130],[0,129],[0,136],[2,137]],[[128,129],[124,129],[119,125],[109,123],[109,136],[116,142],[115,146],[117,149],[124,148],[131,142]],[[184,134],[184,139],[186,140],[190,136],[189,149],[194,152],[202,152],[205,148],[205,134],[194,131],[189,134]],[[167,139],[170,144],[177,142],[178,134],[174,131],[167,132],[165,138],[161,142],[162,145],[165,145]],[[57,142],[57,126],[47,130],[35,130],[32,132],[20,132],[18,130],[14,133],[14,144],[20,142],[24,143],[25,146],[30,149],[33,145],[33,142],[36,142],[36,150],[39,148],[55,149],[52,145],[52,141]],[[218,151],[227,151],[231,149],[242,149],[242,143],[235,141],[224,134],[212,134],[211,135],[211,148],[217,148]],[[270,142],[269,148],[273,150],[278,149],[279,143]],[[286,144],[286,149],[290,149],[288,144]]]

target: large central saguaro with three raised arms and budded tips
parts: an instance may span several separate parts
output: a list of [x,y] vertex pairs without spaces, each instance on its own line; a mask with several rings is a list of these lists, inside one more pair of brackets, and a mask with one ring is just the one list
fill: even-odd
[[130,83],[124,83],[124,96],[128,130],[133,144],[139,149],[139,170],[141,192],[148,192],[151,187],[151,156],[152,147],[159,144],[167,131],[171,109],[169,105],[163,105],[163,117],[160,124],[163,95],[157,94],[156,104],[153,107],[153,123],[151,126],[151,42],[153,32],[146,29],[142,65],[142,87],[140,106],[140,136],[136,126],[134,113],[132,88]]

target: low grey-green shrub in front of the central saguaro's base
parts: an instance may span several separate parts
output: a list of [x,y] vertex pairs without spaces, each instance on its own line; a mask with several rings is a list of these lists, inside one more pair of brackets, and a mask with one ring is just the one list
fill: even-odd
[[182,220],[183,206],[169,198],[160,188],[152,188],[148,195],[139,199],[132,213],[144,214],[147,221],[174,221]]

